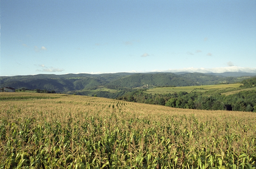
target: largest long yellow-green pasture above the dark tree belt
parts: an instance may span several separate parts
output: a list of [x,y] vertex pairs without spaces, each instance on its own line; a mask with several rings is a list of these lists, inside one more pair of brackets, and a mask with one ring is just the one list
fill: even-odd
[[220,84],[220,85],[203,85],[203,86],[184,86],[184,87],[159,87],[154,89],[149,89],[144,92],[151,93],[151,94],[167,94],[167,93],[174,93],[174,92],[205,92],[212,89],[225,89],[225,88],[237,88],[239,87],[240,83],[235,84]]

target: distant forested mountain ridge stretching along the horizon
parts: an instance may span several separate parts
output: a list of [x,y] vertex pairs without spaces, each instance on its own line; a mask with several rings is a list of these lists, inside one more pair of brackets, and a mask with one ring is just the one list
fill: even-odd
[[[151,86],[197,86],[218,83],[234,83],[256,76],[253,73],[188,73],[188,72],[152,72],[152,73],[106,73],[106,74],[38,74],[1,76],[0,87],[46,89],[48,91],[68,92],[83,89],[95,89],[99,86],[112,88],[135,88]],[[239,77],[239,78],[238,78]],[[241,78],[242,77],[242,78]]]

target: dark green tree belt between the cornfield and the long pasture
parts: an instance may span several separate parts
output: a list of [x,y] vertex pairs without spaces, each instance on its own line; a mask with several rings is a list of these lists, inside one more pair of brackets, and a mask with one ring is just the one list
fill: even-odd
[[[256,78],[243,80],[238,88],[223,88],[206,90],[205,92],[180,91],[168,94],[148,94],[144,90],[128,92],[118,97],[118,100],[159,104],[169,107],[200,110],[233,110],[256,112]],[[202,86],[203,87],[203,86]],[[248,90],[244,90],[247,88]],[[251,89],[251,90],[250,90]],[[225,95],[227,91],[239,91]],[[221,94],[223,93],[223,94]]]

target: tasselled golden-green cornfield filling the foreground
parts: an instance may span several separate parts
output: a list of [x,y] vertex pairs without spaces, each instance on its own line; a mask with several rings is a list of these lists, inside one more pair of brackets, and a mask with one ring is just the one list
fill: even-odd
[[61,94],[0,100],[0,168],[256,168],[252,112]]

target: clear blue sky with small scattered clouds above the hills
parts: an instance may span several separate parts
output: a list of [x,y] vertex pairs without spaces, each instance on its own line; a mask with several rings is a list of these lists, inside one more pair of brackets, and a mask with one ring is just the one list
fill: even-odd
[[1,0],[0,75],[256,73],[256,1]]

